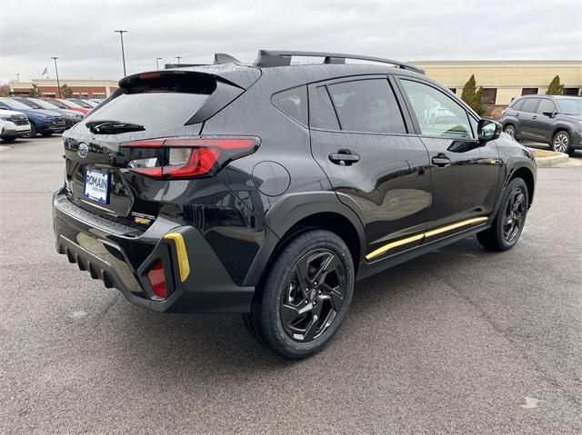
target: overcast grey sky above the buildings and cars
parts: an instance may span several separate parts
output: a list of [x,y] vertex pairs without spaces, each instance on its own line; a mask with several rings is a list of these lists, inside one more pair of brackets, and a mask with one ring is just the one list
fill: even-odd
[[119,79],[162,63],[252,62],[259,48],[399,60],[582,60],[582,0],[12,1],[0,0],[0,81]]

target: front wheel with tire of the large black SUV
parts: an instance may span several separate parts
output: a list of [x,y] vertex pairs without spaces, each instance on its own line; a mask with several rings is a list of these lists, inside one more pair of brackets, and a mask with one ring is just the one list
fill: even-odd
[[527,184],[523,179],[515,178],[507,185],[493,224],[487,230],[477,232],[477,240],[490,251],[513,248],[526,224],[528,207]]

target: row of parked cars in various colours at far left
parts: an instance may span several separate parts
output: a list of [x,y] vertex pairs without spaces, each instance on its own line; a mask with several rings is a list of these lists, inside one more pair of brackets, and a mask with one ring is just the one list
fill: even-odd
[[81,121],[103,100],[86,98],[0,97],[0,139],[50,136],[62,133]]

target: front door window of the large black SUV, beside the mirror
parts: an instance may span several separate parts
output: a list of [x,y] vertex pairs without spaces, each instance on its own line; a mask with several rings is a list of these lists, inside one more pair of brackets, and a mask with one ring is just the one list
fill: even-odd
[[416,114],[421,133],[451,138],[475,137],[467,111],[432,86],[401,80]]

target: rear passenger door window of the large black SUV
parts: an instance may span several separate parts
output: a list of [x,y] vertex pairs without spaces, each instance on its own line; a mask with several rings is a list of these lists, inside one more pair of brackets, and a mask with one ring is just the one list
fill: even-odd
[[406,133],[396,97],[386,79],[330,84],[328,89],[342,130]]

